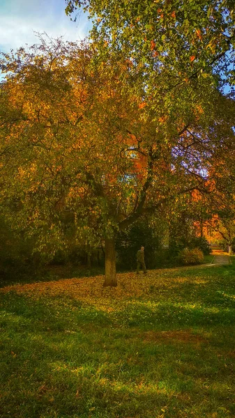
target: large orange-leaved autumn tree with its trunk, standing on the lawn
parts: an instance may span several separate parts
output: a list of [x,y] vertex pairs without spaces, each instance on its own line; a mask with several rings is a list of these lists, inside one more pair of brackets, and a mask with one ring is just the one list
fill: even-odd
[[1,69],[3,215],[40,251],[66,245],[71,225],[77,239],[104,238],[105,286],[116,286],[116,231],[206,190],[213,156],[232,146],[232,100],[205,78],[172,92],[176,114],[156,111],[125,54],[100,61],[96,45],[61,40],[5,54]]

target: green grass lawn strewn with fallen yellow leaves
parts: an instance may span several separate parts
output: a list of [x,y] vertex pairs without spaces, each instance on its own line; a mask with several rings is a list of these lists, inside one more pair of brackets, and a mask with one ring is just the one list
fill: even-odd
[[235,265],[2,288],[0,417],[235,417]]

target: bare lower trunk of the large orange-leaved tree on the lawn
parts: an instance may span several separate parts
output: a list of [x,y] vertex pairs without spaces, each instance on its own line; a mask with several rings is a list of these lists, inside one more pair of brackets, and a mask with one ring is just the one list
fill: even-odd
[[115,239],[105,238],[105,283],[103,286],[116,286]]

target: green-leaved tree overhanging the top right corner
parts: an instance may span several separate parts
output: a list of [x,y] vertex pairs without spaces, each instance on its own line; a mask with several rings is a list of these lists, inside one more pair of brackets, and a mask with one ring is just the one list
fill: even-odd
[[[195,164],[197,175],[202,177],[204,172],[204,177],[210,180],[212,161],[204,167],[200,164],[212,154],[214,162],[216,158],[224,161],[222,147],[233,160],[234,145],[230,141],[232,148],[228,149],[227,130],[231,131],[234,121],[230,118],[228,123],[218,124],[221,118],[227,119],[226,109],[234,108],[232,95],[230,102],[221,96],[215,98],[215,90],[211,88],[206,93],[205,85],[211,84],[224,94],[228,86],[232,91],[234,1],[66,0],[66,6],[66,13],[75,19],[79,9],[89,14],[93,22],[91,38],[101,60],[110,52],[116,59],[120,53],[126,54],[130,72],[141,75],[134,92],[138,91],[143,97],[146,119],[156,122],[156,137],[161,144],[170,143],[171,152],[177,150],[178,157],[181,153],[185,170],[192,173],[192,164]],[[220,115],[215,111],[216,106],[220,108]],[[221,116],[221,109],[225,118]],[[198,116],[199,112],[203,115]],[[192,115],[197,115],[198,131]],[[219,134],[215,132],[218,130]],[[183,132],[183,143],[179,132]],[[213,148],[213,136],[220,137],[217,150]],[[188,137],[188,144],[185,137]],[[195,151],[192,146],[195,143],[197,146],[200,143],[200,155],[198,148]],[[188,160],[186,164],[184,161],[186,153],[192,154],[188,168]],[[213,193],[210,181],[207,186]]]

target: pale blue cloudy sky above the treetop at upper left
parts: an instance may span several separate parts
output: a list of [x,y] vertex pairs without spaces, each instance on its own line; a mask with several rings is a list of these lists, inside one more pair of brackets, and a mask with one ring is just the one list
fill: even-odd
[[8,52],[38,42],[34,32],[64,40],[81,40],[91,23],[82,13],[71,22],[64,0],[0,0],[0,51]]

